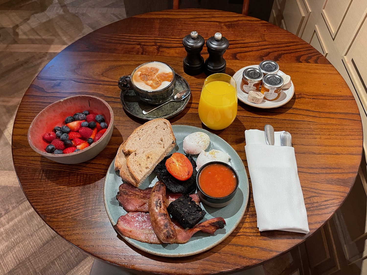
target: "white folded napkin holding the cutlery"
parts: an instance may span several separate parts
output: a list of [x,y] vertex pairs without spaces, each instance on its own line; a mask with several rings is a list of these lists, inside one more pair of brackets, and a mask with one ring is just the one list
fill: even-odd
[[250,172],[259,231],[283,230],[308,233],[305,202],[299,183],[294,148],[267,145],[265,133],[246,130],[246,158]]

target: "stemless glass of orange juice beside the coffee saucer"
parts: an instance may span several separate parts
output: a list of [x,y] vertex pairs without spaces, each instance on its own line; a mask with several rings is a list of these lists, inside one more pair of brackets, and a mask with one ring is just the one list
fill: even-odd
[[236,81],[228,74],[208,76],[201,90],[199,117],[205,126],[213,130],[228,127],[237,115]]

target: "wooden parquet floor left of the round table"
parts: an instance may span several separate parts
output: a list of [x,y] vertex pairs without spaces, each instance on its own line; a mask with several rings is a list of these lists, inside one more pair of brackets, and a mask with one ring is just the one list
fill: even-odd
[[90,272],[93,258],[52,231],[23,194],[11,133],[22,96],[44,65],[73,41],[123,18],[122,0],[0,0],[0,275]]

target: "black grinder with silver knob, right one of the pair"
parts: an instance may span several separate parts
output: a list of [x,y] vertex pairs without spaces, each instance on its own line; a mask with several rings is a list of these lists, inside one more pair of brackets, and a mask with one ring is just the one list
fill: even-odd
[[226,60],[223,54],[229,46],[227,38],[222,37],[221,33],[215,33],[207,40],[209,57],[205,60],[204,73],[207,76],[215,73],[226,72]]

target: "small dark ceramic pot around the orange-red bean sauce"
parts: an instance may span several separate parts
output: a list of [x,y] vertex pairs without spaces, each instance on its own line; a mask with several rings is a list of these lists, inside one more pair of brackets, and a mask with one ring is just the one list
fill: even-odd
[[[208,166],[210,164],[222,164],[222,165],[228,167],[229,169],[231,169],[232,172],[235,174],[236,188],[228,196],[221,197],[221,198],[211,197],[211,196],[205,194],[203,192],[203,190],[201,190],[200,183],[199,183],[200,173],[203,171],[203,169],[206,166]],[[238,184],[239,184],[239,179],[238,179],[238,175],[237,175],[236,170],[233,169],[233,167],[230,166],[229,164],[226,164],[226,163],[220,162],[220,161],[211,161],[211,162],[208,162],[208,163],[204,164],[203,166],[200,167],[199,172],[197,172],[197,176],[196,176],[197,195],[199,196],[200,201],[205,203],[206,205],[214,207],[214,208],[221,208],[221,207],[224,207],[224,206],[228,205],[233,200],[233,198],[235,197],[236,191],[238,189]]]

